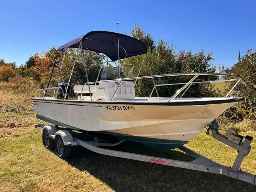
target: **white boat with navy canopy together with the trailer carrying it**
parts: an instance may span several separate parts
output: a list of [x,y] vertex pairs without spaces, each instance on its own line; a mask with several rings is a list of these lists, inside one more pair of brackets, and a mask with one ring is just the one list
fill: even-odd
[[[60,62],[59,58],[59,53],[64,51],[65,56],[68,48],[78,48],[76,58],[79,52],[82,53],[87,78],[85,84],[74,86],[74,93],[76,93],[74,100],[69,99],[68,94],[76,58],[68,83],[65,82],[62,74],[64,59]],[[112,62],[106,61],[101,66],[95,82],[89,82],[84,49],[105,54],[112,60]],[[63,159],[68,158],[72,147],[79,145],[99,154],[223,174],[256,184],[256,176],[244,173],[240,168],[244,157],[250,152],[253,138],[250,136],[243,138],[234,129],[226,130],[226,136],[224,136],[218,132],[218,124],[210,124],[226,109],[244,100],[244,98],[236,98],[234,94],[231,94],[240,78],[227,74],[208,73],[152,75],[148,62],[151,75],[139,77],[146,52],[147,48],[141,41],[107,31],[92,31],[58,47],[57,57],[63,82],[59,83],[57,87],[37,90],[35,97],[31,98],[36,117],[55,125],[35,125],[35,127],[42,128],[44,147],[55,148],[56,155]],[[138,76],[133,77],[134,66],[125,63],[125,59],[142,54],[145,56]],[[120,59],[124,60],[120,61]],[[116,60],[118,61],[113,62]],[[233,79],[195,81],[198,76],[206,75],[229,76]],[[170,84],[156,84],[154,81],[155,78],[170,76],[191,76],[191,79],[184,83]],[[154,88],[149,97],[136,97],[134,86],[138,79],[152,79]],[[192,84],[223,81],[236,81],[224,98],[182,97]],[[168,98],[159,96],[157,90],[159,86],[172,85],[183,85],[183,87]],[[47,90],[54,90],[52,97],[46,96]],[[38,97],[38,92],[42,91],[43,96]],[[156,91],[157,97],[152,97],[154,91]],[[177,97],[179,95],[180,97]],[[207,125],[209,125],[207,134],[211,131],[211,136],[214,139],[238,151],[232,168],[217,164],[183,146],[202,132]],[[72,130],[76,130],[82,135],[89,135],[89,138],[81,140]],[[102,148],[102,146],[111,147],[121,144],[125,140],[164,149],[179,148],[194,157],[195,160],[186,162]]]

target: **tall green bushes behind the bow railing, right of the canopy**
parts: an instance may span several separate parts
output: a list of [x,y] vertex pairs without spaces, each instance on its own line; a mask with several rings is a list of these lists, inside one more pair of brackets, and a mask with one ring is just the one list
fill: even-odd
[[[212,52],[205,55],[204,51],[200,51],[196,54],[192,52],[185,52],[184,50],[178,50],[175,52],[173,44],[167,43],[165,40],[158,40],[156,45],[154,38],[149,34],[145,33],[142,28],[135,24],[134,29],[131,30],[132,37],[141,40],[146,44],[148,52],[146,55],[146,60],[150,64],[152,74],[170,74],[170,73],[186,73],[186,72],[214,72],[215,68],[210,67],[210,60],[212,60]],[[134,64],[134,74],[138,74],[140,70],[141,62],[144,56],[136,56],[128,58],[126,62]],[[142,68],[140,76],[150,75],[150,71],[147,67]],[[176,76],[176,77],[163,77],[155,78],[156,84],[170,84],[170,83],[183,83],[188,82],[192,76]],[[214,80],[216,77],[211,76],[200,76],[197,78],[198,81],[201,80]],[[183,85],[177,86],[158,86],[157,90],[160,96],[170,97]],[[154,84],[152,79],[141,79],[137,81],[135,86],[137,96],[149,96]],[[185,96],[216,96],[214,86],[210,84],[193,84]],[[156,96],[154,92],[153,96]]]

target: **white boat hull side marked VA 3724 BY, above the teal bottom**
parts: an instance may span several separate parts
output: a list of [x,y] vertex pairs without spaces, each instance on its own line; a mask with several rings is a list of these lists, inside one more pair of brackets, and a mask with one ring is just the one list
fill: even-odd
[[[36,115],[78,130],[188,142],[239,99],[161,102],[81,102],[32,98]],[[202,100],[202,99],[201,99]],[[206,100],[203,100],[205,102]],[[150,103],[150,104],[148,104]]]

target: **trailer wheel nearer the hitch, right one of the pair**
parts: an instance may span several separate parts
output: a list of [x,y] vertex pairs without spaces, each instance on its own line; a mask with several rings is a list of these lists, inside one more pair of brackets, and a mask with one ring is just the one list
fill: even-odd
[[71,153],[71,146],[64,145],[61,136],[57,135],[54,140],[55,153],[58,157],[62,159],[68,158]]

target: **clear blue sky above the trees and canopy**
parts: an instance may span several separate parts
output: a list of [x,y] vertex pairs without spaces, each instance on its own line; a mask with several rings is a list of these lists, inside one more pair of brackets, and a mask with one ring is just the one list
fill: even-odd
[[0,58],[24,64],[36,52],[92,30],[129,33],[134,23],[176,48],[213,52],[230,67],[256,49],[256,1],[0,1]]

